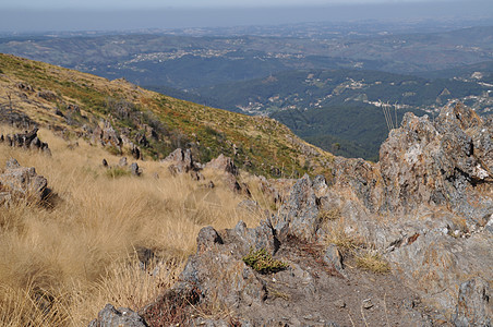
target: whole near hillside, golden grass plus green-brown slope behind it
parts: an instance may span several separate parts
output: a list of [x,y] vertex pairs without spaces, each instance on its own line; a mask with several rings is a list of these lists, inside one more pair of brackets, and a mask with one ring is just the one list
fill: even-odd
[[[204,164],[225,154],[251,172],[278,177],[328,173],[333,158],[270,119],[7,55],[0,55],[0,117],[2,135],[38,125],[52,154],[0,143],[0,173],[15,158],[52,192],[48,206],[0,206],[2,326],[84,326],[108,302],[142,307],[175,282],[202,227],[258,223],[262,215],[240,209],[244,195],[217,171],[204,169],[194,181],[157,160],[177,147]],[[101,144],[98,128],[125,141]],[[132,146],[143,154],[141,177],[118,166]],[[252,199],[275,208],[251,178],[238,177]]]

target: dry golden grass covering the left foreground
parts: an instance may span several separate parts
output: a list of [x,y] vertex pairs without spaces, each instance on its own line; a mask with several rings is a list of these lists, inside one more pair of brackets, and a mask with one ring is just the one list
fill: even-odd
[[[101,160],[115,166],[118,157],[82,140],[70,149],[49,131],[39,135],[51,157],[0,144],[0,167],[11,157],[35,167],[56,194],[53,208],[0,207],[1,326],[84,326],[109,302],[136,310],[172,284],[203,226],[261,218],[237,210],[242,198],[212,171],[204,174],[215,189],[172,178],[154,161],[139,162],[140,178],[109,178]],[[159,266],[142,269],[139,247],[153,250]]]

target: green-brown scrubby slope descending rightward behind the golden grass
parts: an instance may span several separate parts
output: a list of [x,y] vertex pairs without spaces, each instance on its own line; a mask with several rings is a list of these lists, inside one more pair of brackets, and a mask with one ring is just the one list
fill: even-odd
[[159,159],[187,147],[202,162],[225,154],[250,171],[280,175],[322,172],[332,158],[270,119],[178,100],[124,80],[9,55],[0,55],[0,73],[3,111],[19,109],[52,130],[85,137],[94,137],[98,125],[111,126],[122,138],[109,147],[115,153],[136,146]]

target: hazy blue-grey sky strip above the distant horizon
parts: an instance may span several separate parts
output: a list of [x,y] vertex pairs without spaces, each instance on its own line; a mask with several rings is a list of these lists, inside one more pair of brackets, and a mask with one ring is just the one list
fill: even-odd
[[492,17],[493,0],[0,0],[0,33]]

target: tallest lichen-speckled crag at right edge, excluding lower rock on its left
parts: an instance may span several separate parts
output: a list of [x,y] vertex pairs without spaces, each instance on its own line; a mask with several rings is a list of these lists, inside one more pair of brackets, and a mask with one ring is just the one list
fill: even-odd
[[493,202],[479,189],[492,182],[492,133],[462,106],[443,110],[434,123],[407,113],[380,153],[386,208],[406,213],[448,205],[484,225]]

